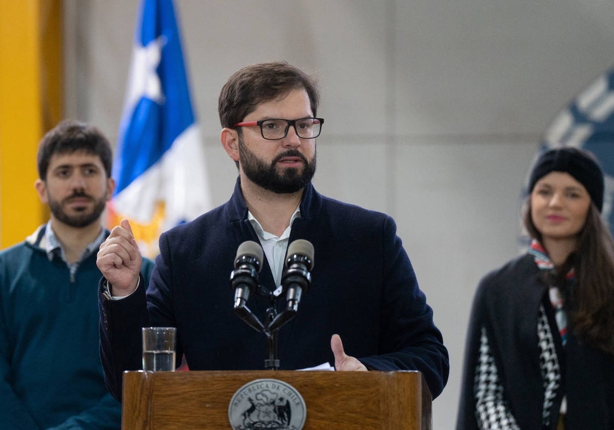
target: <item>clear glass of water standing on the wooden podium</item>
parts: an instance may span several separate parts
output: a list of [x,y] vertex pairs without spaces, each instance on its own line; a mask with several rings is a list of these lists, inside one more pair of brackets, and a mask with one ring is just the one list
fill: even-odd
[[175,327],[143,327],[143,370],[175,370]]

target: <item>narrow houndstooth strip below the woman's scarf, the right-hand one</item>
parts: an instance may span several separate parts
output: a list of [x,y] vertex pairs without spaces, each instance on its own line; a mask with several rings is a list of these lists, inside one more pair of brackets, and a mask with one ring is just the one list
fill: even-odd
[[540,369],[542,370],[542,380],[544,389],[542,423],[550,426],[550,414],[553,400],[556,397],[556,390],[561,386],[561,367],[554,348],[554,339],[548,324],[548,317],[543,305],[539,308],[539,318],[537,320],[537,339],[540,348]]

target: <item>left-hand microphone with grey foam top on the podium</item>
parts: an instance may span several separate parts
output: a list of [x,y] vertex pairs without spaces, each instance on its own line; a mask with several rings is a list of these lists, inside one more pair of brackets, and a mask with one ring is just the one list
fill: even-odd
[[230,273],[230,287],[235,290],[235,313],[257,331],[265,329],[262,322],[252,314],[246,303],[249,294],[258,287],[258,273],[262,268],[263,252],[260,244],[247,240],[236,250],[235,270]]

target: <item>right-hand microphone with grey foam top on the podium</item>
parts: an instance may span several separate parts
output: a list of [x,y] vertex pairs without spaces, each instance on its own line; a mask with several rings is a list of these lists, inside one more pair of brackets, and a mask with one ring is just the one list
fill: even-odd
[[278,330],[296,315],[301,294],[311,285],[309,271],[313,268],[313,254],[313,244],[307,240],[298,239],[288,246],[286,271],[281,278],[281,285],[286,291],[286,309],[270,322],[267,327],[269,332]]

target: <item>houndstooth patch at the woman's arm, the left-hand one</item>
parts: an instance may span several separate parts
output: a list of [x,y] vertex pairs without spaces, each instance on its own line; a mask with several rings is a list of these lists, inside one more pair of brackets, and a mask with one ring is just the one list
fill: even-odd
[[488,345],[486,329],[480,335],[480,356],[475,369],[473,392],[476,400],[476,419],[482,430],[519,430],[518,424],[503,399],[497,365]]

